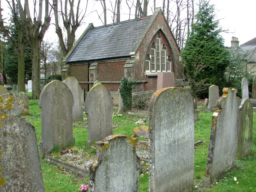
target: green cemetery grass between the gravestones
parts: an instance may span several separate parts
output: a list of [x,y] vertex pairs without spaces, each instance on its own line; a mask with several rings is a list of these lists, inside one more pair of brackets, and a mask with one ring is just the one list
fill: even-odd
[[[36,129],[38,146],[41,142],[41,111],[38,107],[38,100],[29,100],[30,116],[26,116]],[[143,114],[143,115],[141,115]],[[133,135],[133,129],[141,124],[135,124],[141,118],[145,118],[147,112],[140,112],[138,116],[129,116],[127,113],[119,116],[117,109],[113,110],[114,134]],[[222,174],[212,182],[204,180],[206,172],[206,161],[208,156],[208,144],[210,138],[210,128],[212,122],[212,113],[201,112],[199,120],[195,122],[195,142],[200,140],[202,144],[195,149],[195,173],[194,173],[194,191],[209,192],[253,192],[256,191],[256,111],[253,119],[253,154],[241,161],[236,161],[236,166],[232,170]],[[84,120],[73,123],[73,136],[75,146],[60,151],[54,149],[52,156],[60,158],[64,151],[71,151],[73,154],[80,154],[86,159],[94,159],[96,150],[87,148],[86,143],[88,133],[86,129],[87,120],[84,114]],[[148,126],[145,122],[144,125]],[[144,140],[144,138],[139,138]],[[145,147],[146,150],[148,148]],[[55,166],[41,158],[42,174],[44,179],[44,188],[46,192],[75,192],[80,186],[88,184],[88,177],[80,177],[65,170],[61,166]],[[235,178],[234,178],[235,177]],[[148,163],[144,162],[144,172],[140,174],[139,192],[148,192]]]

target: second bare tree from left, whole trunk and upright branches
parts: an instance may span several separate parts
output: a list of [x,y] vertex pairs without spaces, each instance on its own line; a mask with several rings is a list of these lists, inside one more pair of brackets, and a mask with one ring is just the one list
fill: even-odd
[[[34,18],[32,19],[30,15],[30,6],[28,0],[24,2],[24,9],[20,0],[18,1],[18,8],[20,13],[20,18],[26,20],[26,32],[28,42],[32,48],[33,64],[32,64],[32,99],[39,99],[40,95],[40,50],[41,43],[44,38],[44,34],[50,25],[50,13],[49,13],[49,0],[44,1],[44,22],[42,22],[43,13],[43,0],[34,0]],[[30,1],[31,2],[31,1]],[[38,10],[38,13],[37,11]],[[51,12],[51,11],[50,11]]]

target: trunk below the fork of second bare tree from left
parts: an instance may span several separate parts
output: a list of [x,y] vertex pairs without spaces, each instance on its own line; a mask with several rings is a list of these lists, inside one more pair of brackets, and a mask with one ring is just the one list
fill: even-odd
[[40,96],[40,43],[37,38],[32,41],[32,99],[39,99]]

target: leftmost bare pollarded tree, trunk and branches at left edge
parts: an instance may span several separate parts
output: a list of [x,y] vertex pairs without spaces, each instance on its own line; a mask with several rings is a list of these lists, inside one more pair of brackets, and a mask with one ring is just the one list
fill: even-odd
[[[5,25],[4,18],[2,17],[2,7],[0,1],[0,29],[4,36],[6,36],[14,49],[14,52],[18,58],[18,92],[25,92],[25,57],[24,57],[24,30],[26,18],[26,10],[20,11],[20,7],[16,6],[15,0],[6,0],[8,8],[11,12],[11,19],[14,22],[15,27],[18,30],[18,39],[12,37],[12,34],[8,27]],[[20,3],[20,2],[19,2]],[[20,16],[19,16],[20,15]]]

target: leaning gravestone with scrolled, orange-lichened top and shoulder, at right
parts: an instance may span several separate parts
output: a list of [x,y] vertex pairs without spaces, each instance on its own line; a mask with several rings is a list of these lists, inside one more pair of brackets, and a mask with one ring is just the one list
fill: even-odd
[[212,115],[206,168],[208,181],[235,165],[240,118],[240,98],[236,92],[236,89],[223,88],[223,96],[217,101],[218,110]]

